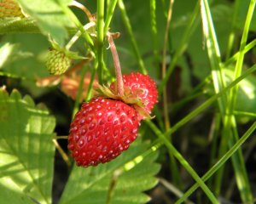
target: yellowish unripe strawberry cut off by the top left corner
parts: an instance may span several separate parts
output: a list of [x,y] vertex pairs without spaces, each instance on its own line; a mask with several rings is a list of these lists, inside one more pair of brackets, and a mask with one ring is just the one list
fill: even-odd
[[0,18],[24,17],[20,5],[13,0],[0,1]]

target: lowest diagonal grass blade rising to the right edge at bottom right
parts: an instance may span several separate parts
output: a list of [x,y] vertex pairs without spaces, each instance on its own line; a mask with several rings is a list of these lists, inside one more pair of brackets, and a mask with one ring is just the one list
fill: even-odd
[[[247,132],[244,133],[238,141],[236,141],[236,144],[234,144],[230,150],[228,150],[224,156],[222,156],[215,164],[212,166],[211,169],[207,171],[201,178],[204,182],[207,181],[208,178],[211,178],[213,173],[216,173],[220,167],[224,165],[224,163],[230,159],[231,156],[233,156],[238,149],[241,148],[241,144],[243,144],[255,131],[256,129],[256,122],[253,122],[253,125],[247,129]],[[179,200],[176,201],[176,204],[182,203],[191,195],[197,188],[199,187],[199,184],[194,184],[187,190],[187,192],[184,193],[183,197],[181,197]]]

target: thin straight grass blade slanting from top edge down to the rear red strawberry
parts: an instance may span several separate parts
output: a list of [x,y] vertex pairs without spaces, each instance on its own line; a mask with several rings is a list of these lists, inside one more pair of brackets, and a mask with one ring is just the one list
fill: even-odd
[[137,42],[135,40],[135,37],[133,35],[133,31],[132,31],[132,28],[131,28],[131,23],[130,23],[130,20],[129,20],[129,17],[127,15],[127,12],[126,12],[126,9],[125,9],[125,3],[123,2],[123,0],[119,0],[119,10],[121,12],[121,16],[122,16],[122,20],[125,24],[125,27],[126,27],[126,30],[127,30],[127,33],[130,37],[130,40],[131,40],[131,45],[132,45],[132,48],[133,48],[133,53],[135,54],[136,58],[137,58],[137,62],[138,62],[138,65],[139,65],[139,70],[143,73],[143,74],[147,74],[148,71],[144,65],[144,62],[143,62],[143,59],[142,59],[142,56],[139,52],[139,48],[137,47]]

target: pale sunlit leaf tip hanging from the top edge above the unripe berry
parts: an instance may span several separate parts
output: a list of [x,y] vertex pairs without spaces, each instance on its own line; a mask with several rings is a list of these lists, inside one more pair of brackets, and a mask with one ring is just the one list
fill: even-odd
[[67,6],[71,0],[18,0],[22,9],[29,14],[44,35],[49,35],[61,46],[68,37],[67,27],[73,22],[63,13],[61,5]]

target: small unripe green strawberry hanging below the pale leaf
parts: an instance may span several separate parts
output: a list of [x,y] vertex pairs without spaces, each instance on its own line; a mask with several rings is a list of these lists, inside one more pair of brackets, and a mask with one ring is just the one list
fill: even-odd
[[61,75],[71,65],[71,59],[67,57],[64,51],[52,49],[49,51],[46,59],[46,67],[50,74]]

